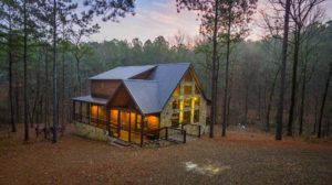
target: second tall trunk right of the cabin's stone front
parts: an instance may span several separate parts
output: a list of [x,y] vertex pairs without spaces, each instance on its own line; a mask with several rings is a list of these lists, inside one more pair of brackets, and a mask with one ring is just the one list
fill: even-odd
[[[231,3],[231,2],[230,2]],[[224,109],[222,109],[222,133],[221,137],[226,137],[226,109],[227,109],[227,96],[228,96],[228,69],[229,69],[229,53],[230,53],[230,25],[231,25],[231,4],[228,4],[228,28],[227,28],[227,50],[226,50],[226,69],[225,69],[225,89],[224,89]]]

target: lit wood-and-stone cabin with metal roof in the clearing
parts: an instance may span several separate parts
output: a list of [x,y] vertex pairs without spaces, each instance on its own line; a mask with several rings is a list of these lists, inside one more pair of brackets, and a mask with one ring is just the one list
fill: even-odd
[[90,95],[72,98],[80,135],[142,146],[176,130],[208,131],[207,98],[190,63],[120,66],[91,77],[90,85]]

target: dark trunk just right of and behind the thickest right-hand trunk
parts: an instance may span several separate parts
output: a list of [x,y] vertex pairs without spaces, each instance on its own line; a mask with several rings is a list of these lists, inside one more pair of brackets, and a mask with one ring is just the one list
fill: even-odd
[[291,85],[291,102],[289,108],[289,119],[288,119],[288,135],[293,135],[293,120],[294,120],[294,109],[295,109],[295,95],[297,95],[297,78],[298,78],[298,62],[299,62],[299,47],[300,47],[300,32],[301,28],[295,26],[294,33],[294,58],[293,58],[293,72],[292,72],[292,85]]

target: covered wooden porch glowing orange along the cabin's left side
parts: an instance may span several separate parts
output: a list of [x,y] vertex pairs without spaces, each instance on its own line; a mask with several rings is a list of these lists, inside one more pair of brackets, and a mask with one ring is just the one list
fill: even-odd
[[159,115],[142,115],[135,108],[112,107],[106,99],[73,98],[73,119],[105,131],[108,137],[143,145],[159,138]]

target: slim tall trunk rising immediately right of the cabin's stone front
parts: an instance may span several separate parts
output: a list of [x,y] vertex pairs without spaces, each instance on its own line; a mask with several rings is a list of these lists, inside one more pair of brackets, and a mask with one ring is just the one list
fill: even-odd
[[210,111],[210,138],[214,138],[214,126],[216,123],[216,113],[217,113],[217,72],[216,72],[216,63],[217,63],[217,31],[218,31],[218,4],[219,0],[215,1],[215,26],[214,26],[214,51],[212,51],[212,86],[211,86],[211,111]]

